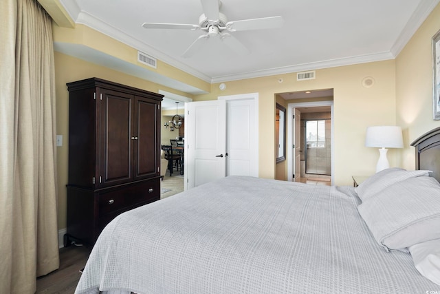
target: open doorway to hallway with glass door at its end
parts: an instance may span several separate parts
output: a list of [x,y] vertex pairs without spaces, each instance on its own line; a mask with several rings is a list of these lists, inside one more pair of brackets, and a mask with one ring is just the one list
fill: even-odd
[[287,105],[287,180],[331,185],[333,89],[278,95]]

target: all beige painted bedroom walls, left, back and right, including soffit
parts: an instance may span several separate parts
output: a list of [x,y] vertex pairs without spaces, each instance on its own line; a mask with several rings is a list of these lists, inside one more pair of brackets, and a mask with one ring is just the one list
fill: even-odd
[[[213,100],[217,96],[259,93],[259,176],[274,178],[275,94],[333,88],[334,111],[334,185],[352,185],[352,175],[375,172],[378,151],[364,147],[366,127],[371,125],[401,125],[404,128],[406,148],[388,151],[391,166],[412,167],[413,149],[408,143],[423,132],[440,126],[432,120],[432,61],[430,38],[440,29],[440,8],[434,10],[417,34],[396,60],[364,63],[316,70],[316,79],[296,81],[296,74],[280,74],[227,82],[226,90],[219,84],[206,85],[169,65],[158,62],[161,74],[188,85],[206,90],[209,94],[191,96],[149,81],[111,70],[94,63],[55,52],[57,134],[64,136],[63,147],[58,147],[58,227],[66,227],[67,184],[67,118],[68,92],[66,83],[96,76],[110,81],[139,87],[151,92],[165,90],[194,101]],[[118,43],[100,33],[76,25],[75,29],[54,25],[54,41],[85,44],[120,59],[131,60],[133,48]],[[130,59],[130,60],[128,60]],[[159,66],[159,65],[162,65]],[[362,79],[374,78],[373,87],[363,87]],[[283,83],[278,79],[283,78]],[[397,98],[396,98],[397,97]],[[289,160],[289,159],[288,159]]]

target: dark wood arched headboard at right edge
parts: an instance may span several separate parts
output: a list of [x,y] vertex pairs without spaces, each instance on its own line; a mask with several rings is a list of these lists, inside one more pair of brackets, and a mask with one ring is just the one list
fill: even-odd
[[432,171],[430,176],[440,182],[440,127],[423,134],[411,146],[415,147],[416,169]]

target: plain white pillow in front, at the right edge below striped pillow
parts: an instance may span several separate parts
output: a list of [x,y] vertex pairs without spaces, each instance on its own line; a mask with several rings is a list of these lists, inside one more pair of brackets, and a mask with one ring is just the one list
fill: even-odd
[[415,244],[408,249],[417,271],[440,286],[440,239]]

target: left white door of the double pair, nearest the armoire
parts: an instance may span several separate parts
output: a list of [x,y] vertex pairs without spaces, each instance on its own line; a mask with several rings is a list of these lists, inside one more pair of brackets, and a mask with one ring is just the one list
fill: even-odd
[[190,189],[226,176],[226,103],[191,102],[187,109],[185,188]]

